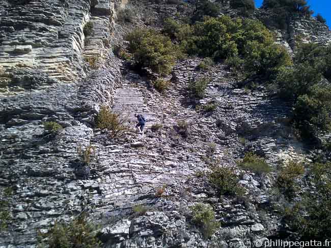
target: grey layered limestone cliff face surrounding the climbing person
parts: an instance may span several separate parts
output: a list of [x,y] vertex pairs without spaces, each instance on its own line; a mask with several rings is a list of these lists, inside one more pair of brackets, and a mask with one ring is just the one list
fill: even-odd
[[[12,187],[14,193],[12,221],[0,234],[0,247],[35,247],[37,230],[46,232],[55,220],[67,221],[82,210],[101,225],[104,247],[244,248],[277,233],[280,218],[268,211],[275,172],[260,176],[238,170],[247,189],[243,199],[219,197],[198,174],[208,170],[206,157],[235,166],[245,150],[265,156],[273,167],[279,160],[309,159],[312,152],[289,125],[291,107],[267,97],[262,86],[238,88],[238,79],[224,65],[198,70],[199,58],[177,63],[162,95],[109,49],[122,42],[127,30],[147,23],[143,12],[134,24],[116,23],[117,8],[146,11],[150,22],[164,13],[175,15],[176,5],[110,0],[1,4],[0,188]],[[93,28],[85,37],[88,22]],[[277,33],[288,49],[298,34],[321,43],[331,40],[329,30],[312,19],[293,19],[288,30]],[[186,101],[187,83],[198,76],[212,79],[201,100],[216,104],[211,114],[197,113]],[[131,121],[133,113],[143,113],[149,120],[146,135],[128,132],[115,142],[93,128],[103,104]],[[186,139],[174,133],[180,120],[190,123]],[[47,137],[45,121],[57,121],[64,129]],[[153,123],[162,128],[152,131]],[[208,143],[215,149],[210,151]],[[76,161],[77,149],[89,145],[94,155],[87,175]],[[189,207],[198,202],[211,204],[222,222],[210,239],[190,222]],[[136,205],[147,212],[136,214]]]

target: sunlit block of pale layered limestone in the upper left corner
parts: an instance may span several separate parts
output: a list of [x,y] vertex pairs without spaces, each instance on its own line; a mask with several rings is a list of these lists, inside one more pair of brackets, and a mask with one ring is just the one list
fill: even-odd
[[[5,1],[0,13],[3,94],[86,77],[84,58],[106,55],[115,14],[113,1],[10,3]],[[88,22],[93,25],[85,37]]]

